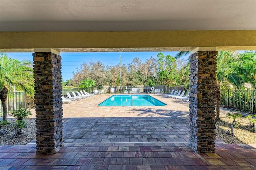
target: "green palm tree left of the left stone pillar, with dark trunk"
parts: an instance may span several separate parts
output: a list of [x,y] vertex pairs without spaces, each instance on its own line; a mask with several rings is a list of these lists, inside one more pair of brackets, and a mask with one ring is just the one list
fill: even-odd
[[0,100],[3,107],[3,120],[7,121],[6,100],[10,86],[34,92],[33,69],[29,60],[11,59],[6,53],[0,53]]

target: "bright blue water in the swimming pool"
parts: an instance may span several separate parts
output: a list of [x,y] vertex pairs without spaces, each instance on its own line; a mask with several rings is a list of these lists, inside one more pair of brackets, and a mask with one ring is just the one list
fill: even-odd
[[98,106],[165,106],[150,95],[112,95]]

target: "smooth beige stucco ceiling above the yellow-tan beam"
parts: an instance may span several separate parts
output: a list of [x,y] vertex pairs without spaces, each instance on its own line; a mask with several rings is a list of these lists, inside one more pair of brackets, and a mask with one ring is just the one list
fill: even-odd
[[0,0],[0,31],[256,30],[256,0]]

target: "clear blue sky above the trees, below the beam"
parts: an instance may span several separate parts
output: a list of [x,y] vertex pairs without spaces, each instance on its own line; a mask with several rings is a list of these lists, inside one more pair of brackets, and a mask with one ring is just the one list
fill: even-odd
[[[138,57],[144,62],[146,59],[149,59],[151,56],[156,57],[159,52],[93,52],[93,53],[60,53],[62,57],[62,77],[64,81],[67,79],[72,79],[73,71],[76,72],[77,68],[83,62],[90,61],[101,61],[106,65],[113,66],[120,64],[120,57],[122,57],[122,64],[131,63],[132,59]],[[168,52],[163,51],[164,55],[176,55],[177,52]],[[33,61],[32,53],[7,53],[8,57],[12,59],[29,59]]]

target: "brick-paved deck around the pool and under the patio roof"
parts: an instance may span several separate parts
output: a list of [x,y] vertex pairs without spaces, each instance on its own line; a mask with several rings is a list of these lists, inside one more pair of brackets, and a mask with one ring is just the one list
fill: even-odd
[[63,117],[70,119],[56,154],[36,154],[34,141],[0,146],[0,169],[256,170],[256,144],[217,139],[215,154],[196,154],[188,146],[188,103],[152,95],[167,105],[98,106],[110,96],[63,105]]

